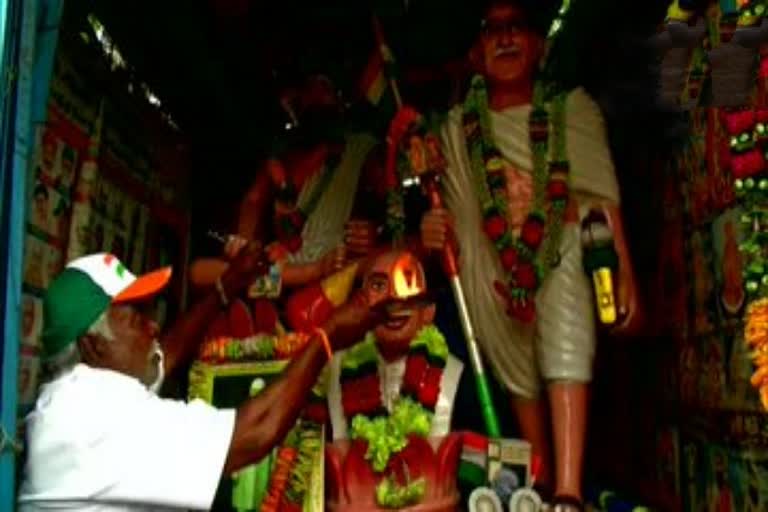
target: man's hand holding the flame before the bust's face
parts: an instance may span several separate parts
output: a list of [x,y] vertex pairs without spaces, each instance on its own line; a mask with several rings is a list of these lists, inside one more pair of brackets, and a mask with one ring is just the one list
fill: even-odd
[[377,305],[369,304],[366,296],[358,291],[333,312],[323,328],[333,349],[342,350],[362,340],[384,319],[383,311]]

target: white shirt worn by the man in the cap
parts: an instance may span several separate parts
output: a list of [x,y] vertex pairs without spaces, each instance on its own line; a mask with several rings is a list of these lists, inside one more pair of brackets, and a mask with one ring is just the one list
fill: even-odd
[[162,399],[138,380],[77,365],[26,418],[19,510],[207,510],[234,410]]

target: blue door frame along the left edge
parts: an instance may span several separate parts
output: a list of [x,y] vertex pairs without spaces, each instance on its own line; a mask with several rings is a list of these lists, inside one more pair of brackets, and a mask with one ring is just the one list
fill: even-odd
[[63,0],[0,0],[0,510],[15,508],[28,181],[35,133],[47,113],[62,8]]

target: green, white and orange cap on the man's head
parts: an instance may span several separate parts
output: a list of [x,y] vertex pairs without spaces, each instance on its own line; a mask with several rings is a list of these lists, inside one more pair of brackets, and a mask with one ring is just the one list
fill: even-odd
[[43,298],[45,357],[53,357],[76,342],[111,304],[152,298],[170,279],[171,267],[136,277],[107,253],[71,261],[51,282]]

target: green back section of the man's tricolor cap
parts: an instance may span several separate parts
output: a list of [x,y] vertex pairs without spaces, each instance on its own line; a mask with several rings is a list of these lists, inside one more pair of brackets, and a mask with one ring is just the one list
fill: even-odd
[[84,335],[109,308],[112,297],[88,274],[67,268],[48,286],[43,298],[43,353],[59,354]]

